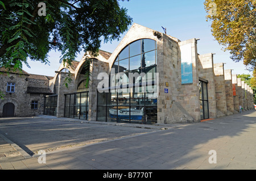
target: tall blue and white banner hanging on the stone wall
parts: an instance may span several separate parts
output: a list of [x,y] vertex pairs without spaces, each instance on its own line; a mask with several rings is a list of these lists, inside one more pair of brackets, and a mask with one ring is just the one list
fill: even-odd
[[193,83],[192,44],[180,46],[181,54],[181,84]]

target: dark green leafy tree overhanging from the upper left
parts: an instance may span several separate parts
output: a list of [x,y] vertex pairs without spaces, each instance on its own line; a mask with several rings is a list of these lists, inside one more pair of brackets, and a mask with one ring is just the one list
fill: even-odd
[[96,55],[132,22],[118,0],[1,0],[0,13],[0,66],[15,69],[28,58],[49,64],[50,50],[69,65],[81,50]]

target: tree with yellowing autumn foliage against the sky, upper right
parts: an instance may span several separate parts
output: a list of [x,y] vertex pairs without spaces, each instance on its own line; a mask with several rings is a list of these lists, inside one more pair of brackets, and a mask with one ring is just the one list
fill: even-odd
[[228,50],[233,61],[243,61],[247,69],[256,65],[256,1],[205,0],[212,35]]

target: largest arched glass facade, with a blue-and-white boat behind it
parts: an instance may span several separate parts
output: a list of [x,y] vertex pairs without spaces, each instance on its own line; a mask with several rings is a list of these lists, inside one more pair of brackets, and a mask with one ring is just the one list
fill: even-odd
[[156,123],[156,60],[156,41],[151,39],[134,41],[118,54],[108,91],[98,92],[97,121]]

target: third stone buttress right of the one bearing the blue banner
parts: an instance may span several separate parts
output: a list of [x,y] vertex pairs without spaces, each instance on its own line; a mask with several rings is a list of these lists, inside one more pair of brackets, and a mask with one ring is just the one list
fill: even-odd
[[226,90],[226,109],[227,115],[234,113],[232,70],[224,70],[225,90]]

